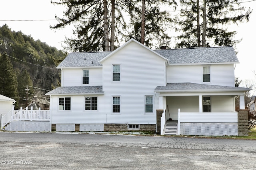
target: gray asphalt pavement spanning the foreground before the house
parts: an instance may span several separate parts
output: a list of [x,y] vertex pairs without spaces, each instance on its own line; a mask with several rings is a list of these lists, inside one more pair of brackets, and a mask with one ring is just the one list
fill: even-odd
[[256,169],[255,140],[0,132],[0,169]]

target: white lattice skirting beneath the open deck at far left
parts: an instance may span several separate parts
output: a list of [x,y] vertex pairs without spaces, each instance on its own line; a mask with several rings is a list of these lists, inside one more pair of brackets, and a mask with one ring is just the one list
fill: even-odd
[[12,121],[7,125],[6,130],[10,131],[50,131],[50,122],[37,121]]

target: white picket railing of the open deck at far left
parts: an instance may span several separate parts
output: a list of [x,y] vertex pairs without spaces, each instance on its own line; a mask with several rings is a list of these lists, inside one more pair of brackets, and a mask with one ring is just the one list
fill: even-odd
[[39,110],[33,110],[33,107],[31,107],[31,110],[28,110],[27,107],[25,110],[22,107],[20,110],[14,110],[13,107],[10,112],[2,116],[1,126],[4,127],[10,121],[50,121],[50,111],[41,110],[41,108]]

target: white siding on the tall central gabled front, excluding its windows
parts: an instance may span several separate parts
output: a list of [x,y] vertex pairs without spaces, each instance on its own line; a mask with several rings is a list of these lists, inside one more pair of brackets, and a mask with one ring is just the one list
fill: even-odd
[[[103,64],[104,104],[107,123],[155,124],[156,99],[153,112],[145,114],[145,95],[155,95],[157,86],[166,85],[165,62],[162,57],[138,45],[129,43]],[[112,67],[120,64],[121,81],[112,81]],[[112,114],[113,95],[120,96],[120,115]]]

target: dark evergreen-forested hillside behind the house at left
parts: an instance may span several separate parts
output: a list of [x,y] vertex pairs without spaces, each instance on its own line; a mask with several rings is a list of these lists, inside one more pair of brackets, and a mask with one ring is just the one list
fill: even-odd
[[60,86],[60,70],[56,65],[66,55],[56,47],[3,25],[0,27],[0,94],[15,99],[16,108],[26,107],[32,101],[42,109],[47,108],[49,97],[44,94]]

